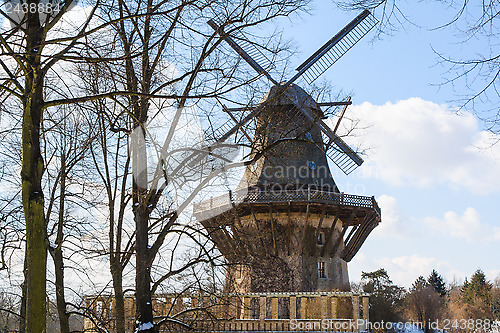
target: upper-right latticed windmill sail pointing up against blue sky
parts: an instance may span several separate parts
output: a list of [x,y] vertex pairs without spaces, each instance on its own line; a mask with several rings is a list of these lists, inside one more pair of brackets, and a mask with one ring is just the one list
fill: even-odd
[[297,67],[296,70],[298,73],[289,82],[291,83],[301,75],[304,75],[307,83],[311,84],[349,51],[377,23],[378,20],[368,10],[363,11]]

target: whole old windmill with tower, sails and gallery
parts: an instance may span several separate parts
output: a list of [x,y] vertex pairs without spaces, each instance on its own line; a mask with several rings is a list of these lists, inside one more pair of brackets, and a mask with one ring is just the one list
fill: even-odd
[[[239,190],[195,206],[195,216],[229,264],[226,291],[331,291],[349,283],[347,262],[380,222],[375,199],[340,192],[328,165],[330,159],[349,174],[363,163],[322,121],[322,106],[345,105],[345,111],[350,101],[317,103],[293,82],[301,76],[314,81],[376,23],[364,11],[280,84],[255,52],[209,21],[274,84],[256,107],[226,109],[232,120],[211,136],[223,142],[256,120],[252,153],[259,158],[246,169]],[[249,113],[237,120],[236,111]]]

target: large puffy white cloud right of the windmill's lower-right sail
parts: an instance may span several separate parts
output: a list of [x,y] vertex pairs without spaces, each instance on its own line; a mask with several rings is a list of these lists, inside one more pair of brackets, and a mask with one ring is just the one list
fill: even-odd
[[491,144],[500,137],[480,131],[471,113],[410,98],[381,106],[366,102],[353,106],[350,115],[360,119],[361,130],[347,139],[368,149],[361,175],[395,185],[499,191],[500,144]]

